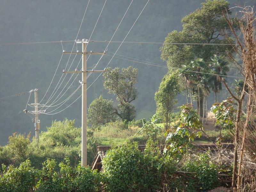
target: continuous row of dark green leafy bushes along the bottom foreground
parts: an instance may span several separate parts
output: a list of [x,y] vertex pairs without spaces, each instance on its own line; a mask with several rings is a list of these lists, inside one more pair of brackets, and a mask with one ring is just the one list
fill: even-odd
[[90,167],[72,167],[68,158],[59,166],[55,160],[47,159],[41,170],[34,169],[26,160],[17,168],[3,166],[0,191],[196,192],[218,186],[220,170],[207,153],[179,163],[170,156],[163,155],[156,143],[149,140],[144,152],[138,149],[137,143],[110,149],[103,159],[104,172],[92,171]]

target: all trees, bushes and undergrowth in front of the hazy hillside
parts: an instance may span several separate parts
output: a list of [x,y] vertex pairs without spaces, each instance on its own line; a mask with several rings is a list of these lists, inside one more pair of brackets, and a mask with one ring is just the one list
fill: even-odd
[[[102,95],[94,92],[88,108],[87,129],[89,164],[98,145],[112,147],[102,159],[103,172],[79,165],[81,128],[75,120],[54,120],[39,141],[15,132],[0,146],[0,190],[196,192],[221,185],[256,190],[256,167],[250,163],[256,158],[256,19],[252,7],[233,18],[229,5],[206,0],[181,20],[181,31],[167,35],[161,58],[169,70],[155,90],[155,115],[135,120],[142,91],[138,68],[106,69]],[[230,71],[242,80],[227,83]],[[221,101],[223,86],[231,97]],[[177,111],[184,90],[186,104]],[[217,131],[207,126],[211,91]],[[197,150],[195,142],[202,140],[213,149]],[[224,141],[234,142],[234,149],[227,151]],[[139,150],[140,144],[146,149]]]

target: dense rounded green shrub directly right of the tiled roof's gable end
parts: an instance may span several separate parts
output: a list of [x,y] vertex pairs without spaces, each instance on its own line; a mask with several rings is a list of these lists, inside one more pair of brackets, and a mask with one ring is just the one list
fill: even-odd
[[102,161],[106,191],[138,191],[138,179],[143,182],[139,165],[142,159],[136,144],[110,149]]

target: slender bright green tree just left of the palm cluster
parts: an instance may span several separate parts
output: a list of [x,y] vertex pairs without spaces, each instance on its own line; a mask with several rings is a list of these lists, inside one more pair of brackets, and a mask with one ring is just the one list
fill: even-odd
[[182,91],[180,85],[181,81],[177,71],[167,73],[159,86],[159,90],[155,93],[156,113],[163,117],[166,130],[170,126],[170,116],[174,105],[177,103],[176,96]]

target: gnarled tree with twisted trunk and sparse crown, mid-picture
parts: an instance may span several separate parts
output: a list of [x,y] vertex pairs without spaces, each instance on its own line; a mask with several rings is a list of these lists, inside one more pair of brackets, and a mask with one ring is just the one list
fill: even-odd
[[138,83],[137,79],[138,69],[133,67],[114,69],[107,68],[104,73],[105,82],[104,87],[108,89],[109,93],[116,95],[116,100],[120,103],[115,108],[115,113],[121,119],[132,121],[135,118],[135,107],[131,104],[138,95],[137,89],[134,87]]

